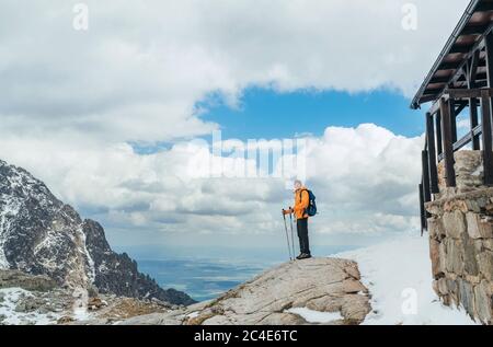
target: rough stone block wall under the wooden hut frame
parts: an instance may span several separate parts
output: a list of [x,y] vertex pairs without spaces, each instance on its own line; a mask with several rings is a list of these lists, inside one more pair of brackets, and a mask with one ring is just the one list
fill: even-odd
[[493,188],[482,185],[480,151],[455,154],[457,187],[426,205],[433,287],[447,305],[462,306],[475,321],[493,322]]

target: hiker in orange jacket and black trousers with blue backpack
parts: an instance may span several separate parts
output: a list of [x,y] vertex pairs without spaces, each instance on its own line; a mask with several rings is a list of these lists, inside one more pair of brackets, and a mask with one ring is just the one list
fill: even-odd
[[295,181],[295,207],[283,209],[283,215],[295,215],[298,230],[300,255],[297,259],[311,258],[310,243],[308,240],[308,218],[317,215],[316,197],[311,190],[303,186],[301,181]]

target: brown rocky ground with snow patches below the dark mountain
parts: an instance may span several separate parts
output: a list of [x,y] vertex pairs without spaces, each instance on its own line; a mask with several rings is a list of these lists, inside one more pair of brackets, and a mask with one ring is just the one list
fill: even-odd
[[112,324],[177,309],[177,305],[157,299],[95,292],[80,297],[70,288],[58,287],[47,276],[0,270],[0,325]]

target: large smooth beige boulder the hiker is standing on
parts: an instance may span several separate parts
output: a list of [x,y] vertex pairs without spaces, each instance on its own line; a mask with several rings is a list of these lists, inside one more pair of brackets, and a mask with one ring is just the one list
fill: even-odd
[[314,258],[283,264],[218,299],[165,314],[121,322],[128,325],[290,325],[309,324],[296,308],[337,313],[325,324],[359,324],[370,312],[357,264]]

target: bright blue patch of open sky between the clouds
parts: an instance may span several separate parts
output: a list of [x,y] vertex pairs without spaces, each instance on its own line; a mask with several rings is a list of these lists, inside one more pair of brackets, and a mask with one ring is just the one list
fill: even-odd
[[202,118],[218,123],[223,139],[291,138],[295,135],[323,135],[328,126],[357,127],[374,123],[397,135],[420,136],[423,112],[409,108],[402,94],[379,90],[370,93],[298,91],[279,93],[249,89],[238,107],[210,96],[197,104],[206,107]]

